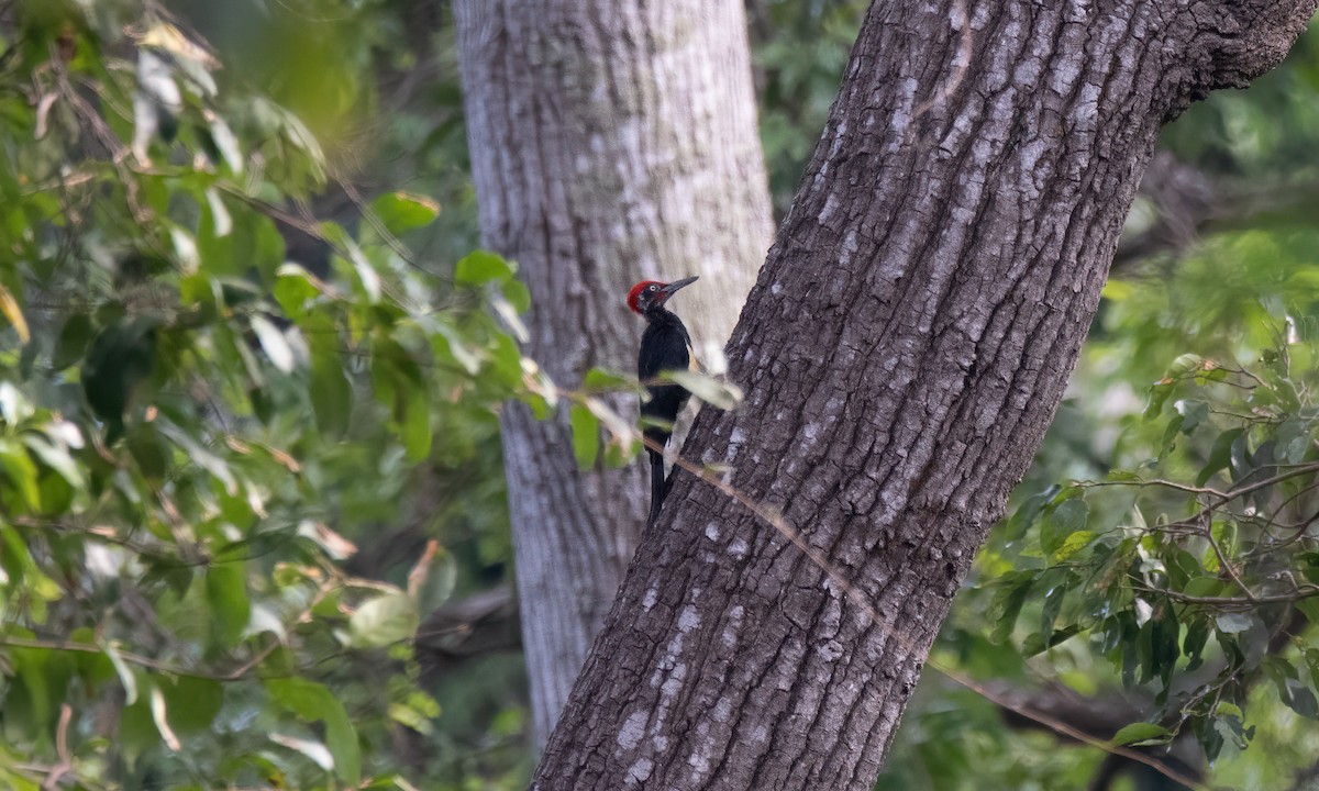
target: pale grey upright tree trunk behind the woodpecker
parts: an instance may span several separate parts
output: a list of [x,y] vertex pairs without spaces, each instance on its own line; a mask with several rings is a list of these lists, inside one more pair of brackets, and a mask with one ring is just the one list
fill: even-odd
[[[638,279],[720,349],[772,239],[740,0],[458,0],[484,244],[532,291],[526,355],[562,386],[636,370]],[[636,407],[624,406],[628,414]],[[580,472],[566,421],[503,417],[537,744],[617,592],[649,505],[641,465]]]

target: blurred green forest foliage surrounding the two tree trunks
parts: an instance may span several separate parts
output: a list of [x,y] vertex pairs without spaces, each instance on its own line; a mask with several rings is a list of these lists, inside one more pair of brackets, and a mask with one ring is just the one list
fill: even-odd
[[[780,212],[864,7],[748,3]],[[474,252],[447,5],[25,0],[0,36],[0,784],[524,787],[496,410],[551,403]],[[1319,775],[1316,144],[1314,33],[1169,127],[936,645],[980,689],[931,668],[880,787],[1178,787],[1012,709]]]

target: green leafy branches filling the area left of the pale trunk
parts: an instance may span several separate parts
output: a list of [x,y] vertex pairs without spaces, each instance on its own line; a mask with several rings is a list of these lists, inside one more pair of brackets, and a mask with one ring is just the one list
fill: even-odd
[[0,784],[394,787],[396,734],[441,715],[410,638],[454,555],[398,558],[405,588],[351,572],[344,537],[410,519],[441,471],[435,523],[508,556],[480,519],[499,405],[545,403],[526,291],[491,253],[418,260],[425,195],[309,210],[342,167],[327,125],[373,100],[357,76],[294,112],[310,83],[226,76],[149,8],[30,3],[5,32]]

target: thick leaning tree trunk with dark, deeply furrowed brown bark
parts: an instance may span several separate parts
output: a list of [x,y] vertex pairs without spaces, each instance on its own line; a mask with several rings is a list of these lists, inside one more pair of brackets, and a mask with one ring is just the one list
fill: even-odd
[[[1312,0],[871,7],[539,790],[869,788],[1062,397],[1155,136]],[[849,588],[849,589],[848,589]],[[872,617],[876,616],[876,617]]]

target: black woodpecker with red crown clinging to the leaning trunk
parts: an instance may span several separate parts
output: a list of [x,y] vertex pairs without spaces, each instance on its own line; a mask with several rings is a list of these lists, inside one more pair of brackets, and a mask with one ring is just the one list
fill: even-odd
[[[682,385],[654,380],[661,370],[699,369],[687,328],[682,319],[669,312],[665,303],[678,289],[694,282],[695,277],[671,283],[641,281],[628,291],[628,307],[646,319],[646,331],[641,335],[641,351],[637,353],[637,378],[646,384],[650,401],[641,405],[641,417],[661,423],[648,425],[644,434],[661,448],[669,444],[673,423],[691,393]],[[646,525],[652,525],[660,515],[660,506],[669,490],[663,477],[663,452],[646,447],[646,454],[650,456],[650,515]]]

